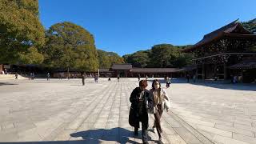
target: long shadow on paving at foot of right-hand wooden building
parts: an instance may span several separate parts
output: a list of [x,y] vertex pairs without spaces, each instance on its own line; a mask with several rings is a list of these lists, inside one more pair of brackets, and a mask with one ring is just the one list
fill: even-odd
[[[161,81],[164,83],[164,80]],[[188,83],[185,78],[174,78],[172,79],[171,83]],[[196,86],[208,86],[218,89],[224,89],[224,90],[251,90],[256,91],[256,84],[249,84],[249,83],[236,83],[233,84],[230,81],[213,81],[213,80],[197,80],[196,82],[193,82],[193,79],[190,79],[189,82],[191,85]],[[170,84],[171,87],[171,84]]]

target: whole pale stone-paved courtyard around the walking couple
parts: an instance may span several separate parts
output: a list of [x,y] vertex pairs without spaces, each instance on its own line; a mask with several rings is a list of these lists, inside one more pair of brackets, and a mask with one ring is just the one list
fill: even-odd
[[[0,142],[142,142],[133,137],[128,124],[130,92],[138,86],[137,78],[81,83],[80,79],[0,81]],[[167,93],[173,107],[162,118],[166,143],[255,143],[254,87],[223,90],[179,82]],[[158,140],[151,131],[153,120],[150,115],[150,143]]]

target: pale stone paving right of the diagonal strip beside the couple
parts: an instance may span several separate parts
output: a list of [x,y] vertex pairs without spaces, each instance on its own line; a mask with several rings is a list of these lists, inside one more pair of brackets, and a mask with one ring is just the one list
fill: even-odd
[[256,86],[185,83],[167,90],[172,111],[215,143],[256,143]]

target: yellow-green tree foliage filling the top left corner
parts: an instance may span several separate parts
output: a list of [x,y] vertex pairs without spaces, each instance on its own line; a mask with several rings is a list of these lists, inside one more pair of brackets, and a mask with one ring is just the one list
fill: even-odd
[[0,0],[0,62],[42,63],[44,42],[38,0]]

